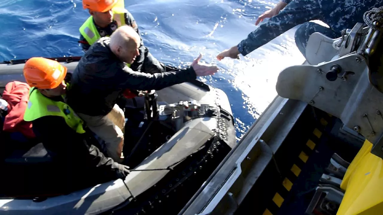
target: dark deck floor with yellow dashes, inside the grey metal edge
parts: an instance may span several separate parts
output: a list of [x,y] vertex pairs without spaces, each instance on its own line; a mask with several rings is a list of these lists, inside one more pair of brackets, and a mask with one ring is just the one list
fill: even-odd
[[333,134],[340,125],[308,106],[234,214],[304,214],[331,156],[351,162],[358,152]]

